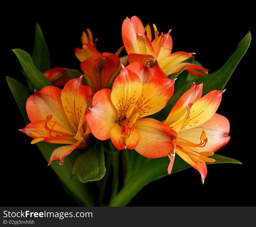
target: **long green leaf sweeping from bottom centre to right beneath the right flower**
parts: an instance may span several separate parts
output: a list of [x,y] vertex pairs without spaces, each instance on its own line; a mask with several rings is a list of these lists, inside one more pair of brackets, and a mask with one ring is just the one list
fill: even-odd
[[[134,150],[129,151],[129,156],[131,152]],[[131,154],[134,158],[133,161],[136,160],[136,156],[138,157],[139,154]],[[233,159],[228,158],[222,155],[214,154],[215,162],[211,164],[218,164],[218,163],[235,163],[241,164],[241,162]],[[138,157],[139,158],[139,157]],[[129,159],[128,159],[129,160]],[[131,161],[131,159],[129,160]],[[169,165],[169,158],[153,158],[148,160],[144,157],[144,162],[140,161],[140,165],[135,167],[133,170],[128,170],[130,173],[129,178],[125,186],[120,190],[120,192],[115,196],[109,203],[109,206],[125,206],[127,205],[131,199],[148,183],[160,179],[164,176],[168,175],[167,168]],[[128,168],[132,165],[129,164]],[[178,155],[175,156],[172,174],[180,172],[182,170],[188,169],[191,166],[182,160]]]

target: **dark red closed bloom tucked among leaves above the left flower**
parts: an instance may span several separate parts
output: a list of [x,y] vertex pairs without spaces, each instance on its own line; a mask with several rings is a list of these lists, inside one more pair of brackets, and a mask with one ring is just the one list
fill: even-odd
[[67,75],[67,68],[63,67],[48,69],[44,74],[56,87],[62,86],[70,80]]

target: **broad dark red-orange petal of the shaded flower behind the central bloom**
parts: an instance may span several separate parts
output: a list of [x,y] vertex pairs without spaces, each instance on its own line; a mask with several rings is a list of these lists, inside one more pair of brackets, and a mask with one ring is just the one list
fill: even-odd
[[88,84],[94,91],[99,91],[113,82],[113,76],[120,66],[120,59],[115,54],[98,53],[81,62],[80,66]]

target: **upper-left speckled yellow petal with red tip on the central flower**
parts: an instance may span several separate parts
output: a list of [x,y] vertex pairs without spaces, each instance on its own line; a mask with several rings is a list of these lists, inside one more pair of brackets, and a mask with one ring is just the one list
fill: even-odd
[[120,118],[126,115],[131,105],[134,105],[141,95],[142,83],[138,75],[127,68],[123,68],[115,79],[111,100],[119,112]]

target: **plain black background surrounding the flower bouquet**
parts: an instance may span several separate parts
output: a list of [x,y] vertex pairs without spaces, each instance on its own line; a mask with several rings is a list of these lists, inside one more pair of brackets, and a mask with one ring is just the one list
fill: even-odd
[[[252,44],[226,86],[217,113],[231,124],[230,142],[218,154],[236,158],[243,165],[208,165],[205,184],[193,168],[154,181],[143,188],[128,206],[253,206],[255,205],[255,67],[252,59],[254,31],[249,6],[223,8],[217,3],[202,5],[171,2],[145,2],[93,6],[5,6],[1,18],[3,57],[2,84],[2,206],[77,206],[62,188],[57,176],[31,138],[20,133],[24,122],[10,93],[5,76],[25,84],[20,65],[11,51],[20,48],[32,54],[34,29],[39,22],[47,41],[51,66],[79,69],[74,48],[81,48],[81,32],[90,28],[98,37],[100,51],[115,52],[122,45],[123,19],[137,15],[143,24],[150,22],[166,33],[170,28],[173,52],[195,52],[196,59],[214,72],[235,51],[238,42],[252,32]],[[119,3],[118,3],[119,4]],[[229,6],[230,7],[230,6]],[[67,157],[68,158],[68,157]]]

